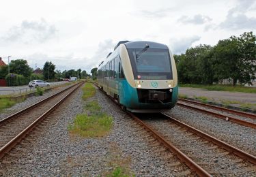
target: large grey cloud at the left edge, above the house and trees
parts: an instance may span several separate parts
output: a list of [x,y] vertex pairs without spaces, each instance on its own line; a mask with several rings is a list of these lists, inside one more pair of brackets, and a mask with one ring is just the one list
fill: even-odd
[[3,42],[21,42],[23,44],[44,43],[55,37],[57,30],[43,18],[40,21],[21,22],[20,26],[11,27],[8,33],[0,37]]

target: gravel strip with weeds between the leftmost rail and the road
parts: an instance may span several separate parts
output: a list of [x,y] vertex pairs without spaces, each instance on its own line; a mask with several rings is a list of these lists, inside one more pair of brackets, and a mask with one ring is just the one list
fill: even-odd
[[68,88],[68,87],[69,86],[60,86],[60,87],[51,89],[51,91],[44,93],[42,96],[28,97],[25,101],[16,103],[11,108],[7,108],[7,109],[3,110],[0,114],[0,120],[7,116],[10,116],[20,110],[23,110],[23,109],[27,108],[28,106],[33,105],[34,103],[38,103],[39,101],[42,101],[43,99],[46,99],[47,97],[50,97],[51,95],[54,95],[55,93],[58,93],[59,91],[62,91],[63,89]]

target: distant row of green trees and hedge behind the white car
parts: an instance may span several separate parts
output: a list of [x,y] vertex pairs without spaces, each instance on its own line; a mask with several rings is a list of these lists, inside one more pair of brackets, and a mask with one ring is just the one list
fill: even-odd
[[[27,60],[16,59],[10,61],[10,74],[8,71],[8,65],[0,67],[0,79],[5,79],[8,82],[8,86],[18,86],[28,84],[30,80],[46,80],[48,82],[60,81],[63,78],[77,77],[87,78],[89,74],[81,69],[70,69],[65,71],[59,71],[51,61],[44,63],[43,69],[36,69],[38,73],[33,73],[33,69],[29,67]],[[56,69],[56,70],[55,70]]]

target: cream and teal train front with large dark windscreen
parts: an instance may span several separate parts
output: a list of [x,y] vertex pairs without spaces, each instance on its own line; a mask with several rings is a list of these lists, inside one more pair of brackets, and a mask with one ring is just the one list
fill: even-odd
[[[125,46],[125,48],[124,48]],[[161,112],[177,103],[177,69],[164,44],[128,42],[120,50],[127,84],[120,101],[131,112]],[[126,50],[125,50],[126,49]]]

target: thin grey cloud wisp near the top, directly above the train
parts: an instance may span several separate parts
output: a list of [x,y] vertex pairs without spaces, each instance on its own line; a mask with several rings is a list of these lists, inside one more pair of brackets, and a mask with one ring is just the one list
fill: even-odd
[[149,11],[149,10],[141,10],[140,12],[134,12],[132,15],[134,16],[143,16],[146,18],[164,18],[168,16],[168,13],[172,10],[172,8],[162,8],[159,10]]

